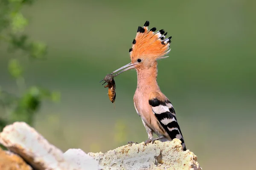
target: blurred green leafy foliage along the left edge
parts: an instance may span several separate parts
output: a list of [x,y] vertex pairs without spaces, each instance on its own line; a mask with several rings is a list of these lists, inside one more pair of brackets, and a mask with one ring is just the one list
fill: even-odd
[[[10,53],[22,51],[23,56],[39,59],[44,58],[47,45],[43,42],[29,40],[23,34],[29,21],[21,13],[24,5],[31,5],[35,0],[0,0],[0,45],[7,44]],[[23,67],[18,58],[9,59],[9,74],[15,79],[18,94],[11,94],[0,88],[0,131],[15,121],[33,125],[34,115],[40,109],[42,100],[58,102],[60,93],[32,86],[26,87]]]

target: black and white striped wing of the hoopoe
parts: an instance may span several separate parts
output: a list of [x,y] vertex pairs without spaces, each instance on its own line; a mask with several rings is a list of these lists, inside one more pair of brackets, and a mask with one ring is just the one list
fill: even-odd
[[160,101],[157,98],[148,100],[149,105],[151,105],[152,111],[156,116],[160,125],[166,130],[171,139],[180,139],[183,146],[183,150],[186,150],[185,142],[178,125],[175,110],[172,103],[169,100]]

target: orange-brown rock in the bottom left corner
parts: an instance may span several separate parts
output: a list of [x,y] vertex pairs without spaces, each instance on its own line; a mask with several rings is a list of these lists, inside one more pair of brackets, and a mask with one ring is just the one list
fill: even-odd
[[32,170],[32,168],[20,156],[0,148],[0,170]]

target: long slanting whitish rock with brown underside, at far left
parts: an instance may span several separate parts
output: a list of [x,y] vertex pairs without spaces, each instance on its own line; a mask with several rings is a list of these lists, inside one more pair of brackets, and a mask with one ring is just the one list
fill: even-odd
[[[34,128],[24,122],[8,125],[0,133],[0,143],[17,153],[37,170],[87,170],[90,166],[79,165],[72,155],[66,154],[50,144]],[[86,153],[84,153],[86,154]],[[98,168],[90,169],[98,170]]]

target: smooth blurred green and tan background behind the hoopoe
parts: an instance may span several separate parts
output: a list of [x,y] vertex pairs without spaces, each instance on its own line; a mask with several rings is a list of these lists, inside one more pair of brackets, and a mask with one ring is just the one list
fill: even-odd
[[253,169],[256,161],[256,1],[38,0],[23,8],[31,38],[47,59],[29,60],[0,46],[0,85],[16,93],[8,60],[23,64],[26,85],[61,92],[44,102],[35,128],[65,151],[105,152],[147,133],[133,95],[136,71],[116,77],[115,109],[99,81],[130,62],[138,26],[172,36],[158,62],[158,84],[170,99],[186,147],[206,170]]

